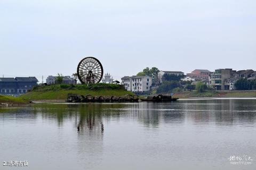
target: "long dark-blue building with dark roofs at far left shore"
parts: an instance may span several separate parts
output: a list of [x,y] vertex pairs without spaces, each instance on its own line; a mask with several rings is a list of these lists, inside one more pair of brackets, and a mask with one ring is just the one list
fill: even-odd
[[34,86],[38,80],[35,77],[0,78],[1,95],[25,94]]

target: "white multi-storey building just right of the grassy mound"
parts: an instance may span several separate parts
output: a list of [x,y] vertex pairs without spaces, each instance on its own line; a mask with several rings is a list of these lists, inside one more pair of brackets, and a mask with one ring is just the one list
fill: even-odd
[[123,77],[122,84],[127,91],[132,92],[145,92],[149,91],[152,86],[152,78],[148,75],[145,76],[132,76]]

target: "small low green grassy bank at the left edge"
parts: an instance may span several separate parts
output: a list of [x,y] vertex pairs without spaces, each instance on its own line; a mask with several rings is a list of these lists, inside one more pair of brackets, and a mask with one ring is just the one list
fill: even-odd
[[0,95],[0,106],[28,105],[28,104],[29,104],[29,100],[26,100],[20,97]]

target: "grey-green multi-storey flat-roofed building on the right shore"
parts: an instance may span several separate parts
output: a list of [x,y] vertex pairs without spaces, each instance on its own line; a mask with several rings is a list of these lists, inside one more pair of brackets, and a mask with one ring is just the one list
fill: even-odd
[[236,73],[236,71],[232,69],[217,69],[210,74],[209,85],[216,90],[227,90],[225,80],[231,78],[234,73]]

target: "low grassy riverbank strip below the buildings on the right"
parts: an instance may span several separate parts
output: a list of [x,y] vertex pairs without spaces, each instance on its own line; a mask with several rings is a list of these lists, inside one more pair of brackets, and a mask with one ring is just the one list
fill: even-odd
[[234,91],[205,91],[198,93],[197,91],[185,91],[185,92],[177,92],[173,97],[185,99],[191,97],[218,97],[218,98],[252,98],[256,97],[255,90],[234,90]]

